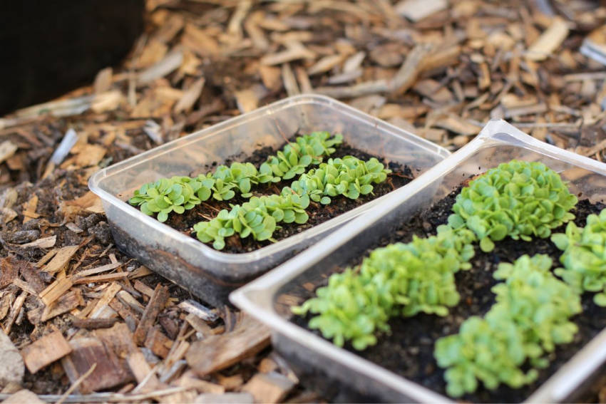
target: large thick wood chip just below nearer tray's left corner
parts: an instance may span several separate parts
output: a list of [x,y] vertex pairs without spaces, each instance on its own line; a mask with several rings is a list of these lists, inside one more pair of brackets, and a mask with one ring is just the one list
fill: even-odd
[[186,359],[198,375],[204,376],[252,356],[268,344],[269,330],[242,314],[232,332],[192,343]]

